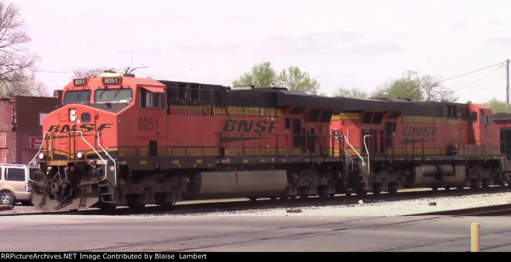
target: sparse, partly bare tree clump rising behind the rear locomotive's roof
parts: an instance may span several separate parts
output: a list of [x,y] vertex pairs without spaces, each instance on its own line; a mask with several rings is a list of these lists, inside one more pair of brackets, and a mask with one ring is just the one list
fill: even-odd
[[377,88],[371,97],[400,97],[412,101],[449,101],[458,100],[456,92],[451,87],[444,86],[429,75],[419,75],[408,71],[405,76]]

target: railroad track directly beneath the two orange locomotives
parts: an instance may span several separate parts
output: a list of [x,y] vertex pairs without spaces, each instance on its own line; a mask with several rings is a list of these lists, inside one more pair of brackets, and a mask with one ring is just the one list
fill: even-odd
[[288,199],[282,200],[270,200],[260,199],[257,201],[233,199],[218,202],[199,202],[190,203],[197,201],[183,201],[177,203],[171,208],[164,208],[161,206],[147,206],[143,209],[131,209],[128,207],[118,207],[113,212],[105,212],[99,209],[85,209],[79,211],[35,211],[26,213],[4,213],[0,212],[0,217],[7,216],[33,216],[33,215],[102,215],[102,216],[125,216],[125,215],[137,215],[145,213],[179,213],[179,215],[191,215],[194,213],[210,213],[210,212],[228,212],[228,211],[243,211],[250,209],[264,209],[264,208],[300,208],[310,206],[332,206],[332,205],[358,205],[359,200],[363,200],[364,203],[375,203],[379,201],[399,201],[409,199],[420,199],[427,197],[456,197],[456,196],[469,196],[476,194],[496,194],[503,192],[511,192],[508,187],[492,186],[484,189],[463,189],[463,190],[416,190],[416,191],[404,191],[396,194],[384,193],[381,195],[368,194],[366,196],[345,196],[339,195],[333,198],[320,199],[318,197],[310,197],[306,199]]

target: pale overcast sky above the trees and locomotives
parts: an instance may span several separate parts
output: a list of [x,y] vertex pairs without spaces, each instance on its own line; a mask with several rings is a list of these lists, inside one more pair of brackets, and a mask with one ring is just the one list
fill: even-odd
[[[43,71],[122,68],[133,56],[133,66],[149,66],[141,77],[230,85],[270,61],[276,69],[299,66],[327,93],[370,92],[406,70],[446,79],[511,58],[504,0],[11,2],[21,7]],[[38,73],[52,90],[71,75]],[[460,100],[505,100],[504,67],[444,83]]]

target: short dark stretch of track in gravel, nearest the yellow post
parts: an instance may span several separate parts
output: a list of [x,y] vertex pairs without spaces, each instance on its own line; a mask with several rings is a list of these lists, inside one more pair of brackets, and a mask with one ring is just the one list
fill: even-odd
[[413,215],[406,215],[405,217],[410,217],[410,216],[452,216],[452,217],[511,216],[511,204],[480,206],[480,207],[472,207],[472,208],[453,209],[453,210],[435,211],[435,212],[427,212],[427,213],[417,213],[417,214],[413,214]]

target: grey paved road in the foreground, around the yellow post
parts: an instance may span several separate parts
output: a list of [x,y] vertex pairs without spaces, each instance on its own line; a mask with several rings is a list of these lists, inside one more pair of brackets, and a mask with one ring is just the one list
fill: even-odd
[[480,224],[481,252],[511,249],[509,217],[36,215],[0,217],[0,252],[468,252],[473,222]]

